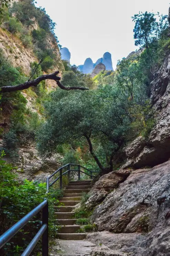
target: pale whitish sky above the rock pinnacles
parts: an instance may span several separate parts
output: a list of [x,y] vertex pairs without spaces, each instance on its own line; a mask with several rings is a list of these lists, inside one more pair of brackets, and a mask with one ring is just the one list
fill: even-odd
[[36,0],[57,23],[55,33],[71,52],[71,64],[95,63],[110,52],[113,68],[136,47],[131,16],[139,11],[168,14],[170,0]]

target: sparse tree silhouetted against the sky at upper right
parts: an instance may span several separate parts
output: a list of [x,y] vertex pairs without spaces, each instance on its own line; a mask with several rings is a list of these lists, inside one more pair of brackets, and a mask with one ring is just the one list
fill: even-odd
[[[160,15],[151,12],[139,12],[131,17],[132,21],[135,21],[134,39],[136,46],[149,47],[149,44],[158,39],[164,29],[167,28],[168,22],[167,16]],[[157,21],[159,20],[159,21]]]

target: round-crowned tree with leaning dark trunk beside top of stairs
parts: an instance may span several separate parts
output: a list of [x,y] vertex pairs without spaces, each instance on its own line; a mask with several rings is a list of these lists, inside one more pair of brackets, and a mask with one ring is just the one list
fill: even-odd
[[[45,112],[46,122],[37,134],[42,155],[52,153],[59,144],[86,140],[100,170],[113,170],[113,157],[124,145],[130,125],[127,99],[118,88],[104,86],[69,94],[56,90],[45,103]],[[98,147],[102,155],[96,154]]]

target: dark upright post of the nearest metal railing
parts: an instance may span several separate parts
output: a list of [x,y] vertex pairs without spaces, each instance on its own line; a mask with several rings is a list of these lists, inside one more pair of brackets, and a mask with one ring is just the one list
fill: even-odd
[[49,213],[48,213],[48,202],[42,209],[42,225],[46,224],[47,228],[42,235],[42,256],[49,255],[49,231],[48,231],[48,224],[49,224]]

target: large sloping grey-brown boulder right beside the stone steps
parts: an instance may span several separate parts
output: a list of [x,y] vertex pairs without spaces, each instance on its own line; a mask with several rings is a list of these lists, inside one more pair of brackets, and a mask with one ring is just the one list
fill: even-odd
[[[170,255],[169,169],[170,161],[153,168],[125,170],[125,173],[121,170],[121,175],[127,175],[127,171],[130,174],[124,176],[124,181],[119,180],[118,188],[112,185],[118,182],[118,173],[115,178],[114,172],[110,173],[111,177],[101,177],[93,187],[88,203],[91,201],[95,205],[94,190],[106,191],[112,186],[113,191],[95,207],[91,219],[99,232],[89,234],[87,238],[96,246],[104,246],[103,251],[107,251],[107,246],[108,255]],[[94,249],[96,254],[92,255],[107,255],[101,251],[102,248],[97,247]]]

